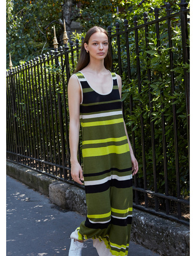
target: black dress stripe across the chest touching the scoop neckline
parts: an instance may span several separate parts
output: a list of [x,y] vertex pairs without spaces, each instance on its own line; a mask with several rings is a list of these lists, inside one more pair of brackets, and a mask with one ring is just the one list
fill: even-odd
[[95,91],[88,91],[83,93],[83,102],[84,104],[102,102],[102,101],[113,101],[120,100],[119,90],[113,89],[109,94],[99,94]]

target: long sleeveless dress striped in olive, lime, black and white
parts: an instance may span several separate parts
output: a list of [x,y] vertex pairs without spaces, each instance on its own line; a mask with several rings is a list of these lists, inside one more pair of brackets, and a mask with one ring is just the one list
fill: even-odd
[[83,95],[80,122],[87,217],[71,238],[93,239],[99,256],[125,256],[132,221],[132,164],[117,76],[111,73],[109,93],[98,93],[81,71],[75,75]]

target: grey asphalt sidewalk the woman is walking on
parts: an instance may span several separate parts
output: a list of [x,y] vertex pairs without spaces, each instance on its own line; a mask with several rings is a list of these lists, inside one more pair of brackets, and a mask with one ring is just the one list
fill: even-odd
[[[39,192],[7,175],[7,255],[68,256],[70,234],[85,217],[62,210]],[[92,240],[83,256],[98,256]],[[128,256],[159,256],[130,242]]]

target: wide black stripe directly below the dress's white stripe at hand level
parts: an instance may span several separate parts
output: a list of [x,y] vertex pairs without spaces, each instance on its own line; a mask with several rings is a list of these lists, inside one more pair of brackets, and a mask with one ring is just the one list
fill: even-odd
[[85,192],[86,194],[99,193],[108,190],[110,187],[130,188],[132,187],[132,179],[126,181],[118,181],[116,179],[112,179],[103,184],[85,185]]

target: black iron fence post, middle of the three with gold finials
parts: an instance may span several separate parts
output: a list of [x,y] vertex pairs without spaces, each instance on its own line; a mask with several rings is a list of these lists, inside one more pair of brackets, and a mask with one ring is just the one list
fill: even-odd
[[[55,27],[54,27],[54,55],[55,55],[55,64],[57,67],[60,66],[59,60],[58,60],[58,42],[57,37],[55,33]],[[56,74],[56,82],[57,84],[60,83],[60,77],[59,74]],[[63,128],[63,113],[62,113],[62,102],[61,102],[61,94],[58,92],[58,105],[59,105],[59,119],[60,119],[60,137],[61,137],[61,152],[62,152],[62,166],[63,166],[63,175],[65,176],[65,136],[64,136],[64,128]],[[60,163],[59,163],[60,164]],[[61,171],[60,171],[60,177],[62,177]]]

